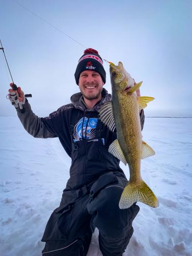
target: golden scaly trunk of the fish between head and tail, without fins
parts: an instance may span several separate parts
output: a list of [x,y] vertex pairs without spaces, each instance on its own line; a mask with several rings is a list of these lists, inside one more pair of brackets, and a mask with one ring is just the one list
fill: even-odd
[[142,142],[137,97],[136,94],[129,95],[117,90],[114,98],[113,105],[118,141],[129,165],[129,182],[134,181],[137,183],[141,180],[140,157]]

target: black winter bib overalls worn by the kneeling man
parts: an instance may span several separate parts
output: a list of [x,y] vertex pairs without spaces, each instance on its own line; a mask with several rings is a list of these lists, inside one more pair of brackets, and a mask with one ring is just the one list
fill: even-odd
[[[90,118],[84,120],[87,125]],[[104,256],[122,255],[132,236],[132,221],[139,207],[134,204],[129,209],[119,209],[127,180],[119,160],[104,145],[103,125],[97,121],[94,139],[82,138],[76,142],[71,125],[70,179],[60,206],[47,223],[42,238],[46,242],[44,256],[86,255],[95,227],[100,232],[99,244]]]

